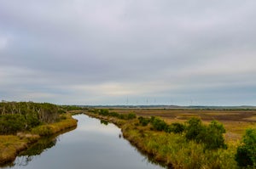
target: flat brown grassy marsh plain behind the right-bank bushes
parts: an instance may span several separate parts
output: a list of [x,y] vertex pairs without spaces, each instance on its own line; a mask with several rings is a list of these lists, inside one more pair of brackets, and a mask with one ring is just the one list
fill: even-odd
[[217,120],[224,124],[228,142],[240,140],[247,128],[256,128],[256,110],[112,109],[111,112],[160,116],[168,123],[184,122],[195,116],[200,117],[204,123]]

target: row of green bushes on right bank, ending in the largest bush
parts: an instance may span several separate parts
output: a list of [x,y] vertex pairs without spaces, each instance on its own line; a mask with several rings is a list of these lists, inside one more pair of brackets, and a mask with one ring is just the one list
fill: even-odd
[[187,127],[182,123],[172,123],[168,125],[158,117],[149,118],[139,117],[139,123],[147,126],[149,123],[152,129],[156,131],[182,133],[185,132],[187,140],[194,140],[198,144],[204,144],[205,149],[226,148],[223,133],[225,132],[223,124],[218,121],[212,121],[210,125],[203,125],[201,119],[191,118],[187,121]]

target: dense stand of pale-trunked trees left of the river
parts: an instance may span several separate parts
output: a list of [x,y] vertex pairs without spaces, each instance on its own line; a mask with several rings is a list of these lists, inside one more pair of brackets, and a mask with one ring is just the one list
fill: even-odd
[[30,130],[40,124],[58,121],[63,114],[55,104],[32,102],[0,103],[0,134],[15,134]]

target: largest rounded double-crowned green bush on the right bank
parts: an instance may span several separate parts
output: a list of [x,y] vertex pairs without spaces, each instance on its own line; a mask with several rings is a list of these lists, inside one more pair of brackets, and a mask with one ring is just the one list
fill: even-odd
[[202,124],[201,119],[195,117],[191,118],[187,123],[185,137],[188,140],[195,140],[197,143],[205,144],[205,149],[226,148],[223,137],[225,132],[223,124],[218,121],[212,121],[210,125],[205,126]]

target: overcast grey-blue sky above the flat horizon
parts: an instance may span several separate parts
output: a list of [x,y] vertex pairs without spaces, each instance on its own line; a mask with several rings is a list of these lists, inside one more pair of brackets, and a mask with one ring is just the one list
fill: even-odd
[[1,0],[0,99],[256,105],[255,0]]

